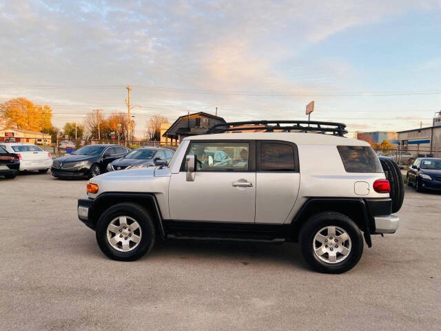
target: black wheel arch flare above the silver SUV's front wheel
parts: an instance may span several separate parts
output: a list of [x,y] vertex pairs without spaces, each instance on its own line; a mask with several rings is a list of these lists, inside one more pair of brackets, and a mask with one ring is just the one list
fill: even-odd
[[93,201],[92,222],[94,228],[99,217],[107,208],[118,203],[136,203],[152,213],[154,217],[154,225],[161,234],[161,238],[165,239],[165,230],[163,227],[163,217],[159,209],[158,201],[153,193],[130,193],[130,192],[104,192],[96,197]]

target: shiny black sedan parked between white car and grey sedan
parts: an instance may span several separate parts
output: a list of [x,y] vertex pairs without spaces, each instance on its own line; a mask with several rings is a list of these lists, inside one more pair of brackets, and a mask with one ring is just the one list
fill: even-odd
[[54,159],[52,176],[59,178],[91,178],[105,172],[107,165],[125,157],[128,148],[118,145],[88,145],[70,155]]

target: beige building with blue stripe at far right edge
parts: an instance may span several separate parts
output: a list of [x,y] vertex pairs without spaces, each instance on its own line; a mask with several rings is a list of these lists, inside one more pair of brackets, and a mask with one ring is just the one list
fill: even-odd
[[399,131],[398,141],[403,150],[441,157],[441,126],[439,125]]

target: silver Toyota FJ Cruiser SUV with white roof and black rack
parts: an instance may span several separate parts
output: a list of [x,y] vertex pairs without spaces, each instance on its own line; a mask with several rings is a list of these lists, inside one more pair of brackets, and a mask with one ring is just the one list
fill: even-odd
[[292,241],[314,270],[345,272],[371,234],[396,232],[404,197],[396,163],[346,133],[331,122],[216,124],[183,139],[168,165],[90,179],[79,219],[119,261],[158,238]]

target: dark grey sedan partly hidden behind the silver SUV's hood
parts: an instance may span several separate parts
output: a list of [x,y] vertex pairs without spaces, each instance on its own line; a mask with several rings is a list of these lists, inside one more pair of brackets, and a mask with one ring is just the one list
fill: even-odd
[[146,147],[132,150],[122,159],[116,159],[107,165],[107,171],[124,170],[134,167],[149,167],[169,163],[174,152],[167,148]]

